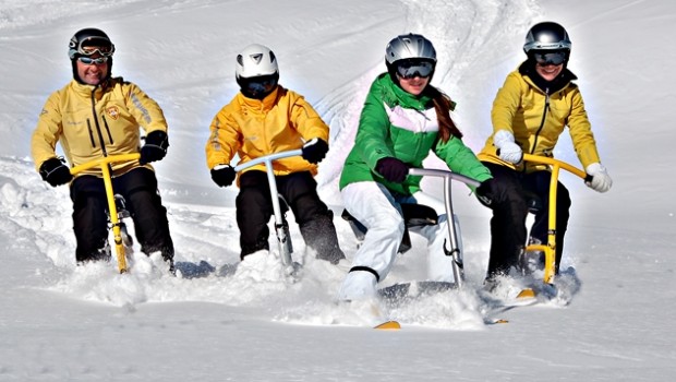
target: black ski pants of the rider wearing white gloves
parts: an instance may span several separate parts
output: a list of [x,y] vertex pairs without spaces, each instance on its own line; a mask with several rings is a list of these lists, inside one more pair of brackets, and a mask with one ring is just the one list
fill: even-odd
[[[550,181],[546,170],[524,174],[506,166],[484,163],[494,178],[491,218],[491,253],[488,277],[506,274],[518,266],[519,255],[527,241],[526,218],[529,211],[535,219],[530,237],[547,242]],[[559,181],[556,191],[556,273],[564,253],[564,236],[570,217],[570,194]]]

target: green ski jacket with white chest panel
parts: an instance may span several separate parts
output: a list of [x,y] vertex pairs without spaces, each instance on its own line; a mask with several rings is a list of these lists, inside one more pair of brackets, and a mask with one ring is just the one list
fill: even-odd
[[474,153],[458,138],[438,139],[438,120],[432,98],[414,96],[397,86],[388,73],[371,85],[359,121],[354,146],[340,176],[340,189],[359,181],[377,181],[390,191],[410,195],[420,190],[421,177],[408,176],[402,183],[385,180],[375,171],[378,159],[396,157],[411,167],[433,151],[451,171],[478,181],[491,179]]

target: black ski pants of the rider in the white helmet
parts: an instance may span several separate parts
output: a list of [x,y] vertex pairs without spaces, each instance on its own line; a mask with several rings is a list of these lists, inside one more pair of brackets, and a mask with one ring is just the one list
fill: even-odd
[[[338,244],[333,212],[319,200],[317,183],[310,171],[276,177],[277,192],[295,216],[305,244],[318,259],[337,263],[345,259]],[[251,170],[240,176],[240,193],[236,200],[240,228],[241,259],[269,250],[268,223],[274,214],[267,174]],[[285,206],[285,203],[280,203]]]

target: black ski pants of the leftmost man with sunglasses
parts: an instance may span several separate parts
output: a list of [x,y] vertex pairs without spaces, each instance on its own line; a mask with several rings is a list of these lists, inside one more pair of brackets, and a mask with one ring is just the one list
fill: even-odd
[[[112,189],[113,193],[124,198],[141,250],[146,254],[160,251],[165,260],[171,261],[173,242],[167,210],[157,192],[155,172],[145,167],[134,168],[112,178]],[[104,180],[95,176],[75,178],[71,183],[71,200],[77,262],[102,259],[108,240],[108,200]]]

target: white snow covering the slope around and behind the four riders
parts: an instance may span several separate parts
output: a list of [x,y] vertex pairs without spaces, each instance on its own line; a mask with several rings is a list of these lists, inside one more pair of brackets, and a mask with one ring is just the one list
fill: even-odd
[[[400,331],[371,330],[369,308],[336,305],[348,265],[304,253],[293,224],[297,279],[276,253],[240,263],[236,190],[213,184],[204,158],[208,123],[237,92],[239,49],[273,48],[281,83],[330,123],[318,181],[340,213],[336,178],[391,37],[435,43],[433,82],[458,102],[478,151],[526,31],[544,20],[571,35],[570,68],[614,179],[599,194],[562,176],[574,207],[557,298],[497,311],[482,295],[490,214],[461,187],[454,203],[470,287],[384,307]],[[673,380],[675,22],[671,1],[0,0],[0,381]],[[29,158],[44,102],[72,75],[67,41],[87,26],[111,36],[114,74],[170,123],[156,169],[179,277],[144,255],[124,275],[113,264],[76,267],[68,189],[43,182]],[[555,154],[579,166],[566,139]],[[353,255],[350,228],[336,225]],[[424,274],[423,242],[413,243],[387,284]],[[509,323],[484,323],[492,318]]]

